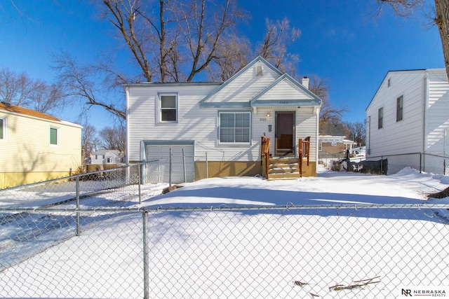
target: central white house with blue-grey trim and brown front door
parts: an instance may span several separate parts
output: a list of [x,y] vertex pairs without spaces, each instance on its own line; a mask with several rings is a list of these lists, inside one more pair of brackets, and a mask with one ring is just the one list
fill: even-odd
[[316,175],[321,99],[304,85],[261,57],[225,82],[126,84],[127,162],[166,168],[171,149],[174,182],[206,177],[206,160],[208,176],[252,176],[261,137],[272,155],[296,157],[297,140],[311,137]]

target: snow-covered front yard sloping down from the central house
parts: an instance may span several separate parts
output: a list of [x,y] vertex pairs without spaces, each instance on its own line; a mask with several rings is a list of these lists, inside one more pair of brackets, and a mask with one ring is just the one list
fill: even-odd
[[448,286],[448,206],[435,205],[448,199],[425,196],[448,183],[414,169],[189,183],[8,267],[0,296],[142,298],[143,207],[149,298],[396,298],[400,286]]

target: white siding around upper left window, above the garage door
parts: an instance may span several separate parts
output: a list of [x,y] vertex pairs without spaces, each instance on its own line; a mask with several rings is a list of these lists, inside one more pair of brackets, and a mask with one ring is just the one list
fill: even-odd
[[[215,147],[217,111],[199,108],[201,99],[213,88],[214,85],[128,88],[128,159],[142,159],[142,140],[198,140],[206,148]],[[177,92],[177,123],[157,123],[156,98],[160,92]]]

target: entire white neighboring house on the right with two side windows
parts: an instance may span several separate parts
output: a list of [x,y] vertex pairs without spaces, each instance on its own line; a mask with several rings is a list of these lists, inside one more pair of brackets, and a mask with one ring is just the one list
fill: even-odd
[[[445,69],[389,71],[366,109],[366,156],[389,156],[389,173],[402,167],[443,172],[449,153],[449,85]],[[448,173],[447,171],[445,171]]]

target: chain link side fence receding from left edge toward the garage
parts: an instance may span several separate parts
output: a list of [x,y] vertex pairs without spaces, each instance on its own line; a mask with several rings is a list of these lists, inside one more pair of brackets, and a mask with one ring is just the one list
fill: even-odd
[[161,194],[168,183],[157,181],[158,172],[145,172],[159,161],[126,165],[115,169],[77,174],[0,190],[0,207],[51,207],[79,204],[95,197],[98,207],[126,207],[142,197]]

